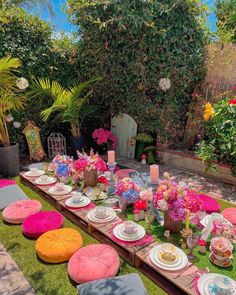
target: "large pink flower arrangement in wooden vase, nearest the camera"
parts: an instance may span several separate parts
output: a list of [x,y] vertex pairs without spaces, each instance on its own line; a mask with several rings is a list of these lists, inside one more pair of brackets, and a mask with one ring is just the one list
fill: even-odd
[[198,194],[189,189],[184,182],[174,181],[165,172],[164,179],[154,195],[154,205],[164,211],[164,226],[171,232],[178,232],[182,221],[186,218],[186,210],[196,213],[201,210]]

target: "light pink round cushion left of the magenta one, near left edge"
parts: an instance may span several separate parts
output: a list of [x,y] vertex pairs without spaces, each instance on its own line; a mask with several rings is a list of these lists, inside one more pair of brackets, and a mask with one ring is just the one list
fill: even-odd
[[2,218],[13,224],[22,223],[30,215],[39,212],[42,206],[36,200],[20,200],[8,205],[2,212]]

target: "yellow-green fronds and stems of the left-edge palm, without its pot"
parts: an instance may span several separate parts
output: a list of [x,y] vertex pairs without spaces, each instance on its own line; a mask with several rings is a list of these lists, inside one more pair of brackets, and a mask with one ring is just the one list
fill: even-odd
[[26,96],[17,88],[16,73],[21,62],[18,58],[4,57],[0,59],[0,144],[10,145],[6,124],[6,116],[10,111],[19,111],[26,104]]

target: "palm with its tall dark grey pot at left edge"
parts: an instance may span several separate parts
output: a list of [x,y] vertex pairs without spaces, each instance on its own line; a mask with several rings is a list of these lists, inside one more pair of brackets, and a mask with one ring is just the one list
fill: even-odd
[[[13,121],[12,111],[22,110],[26,104],[23,91],[28,87],[25,78],[17,79],[21,62],[18,58],[4,57],[0,59],[0,173],[4,177],[19,174],[19,146],[10,142],[7,123]],[[13,123],[16,128],[19,122]]]

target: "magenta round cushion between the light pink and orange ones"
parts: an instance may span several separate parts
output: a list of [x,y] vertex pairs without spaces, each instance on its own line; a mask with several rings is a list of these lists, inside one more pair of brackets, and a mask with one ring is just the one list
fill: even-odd
[[43,211],[30,215],[22,224],[25,236],[37,239],[49,230],[63,226],[63,217],[57,211]]

